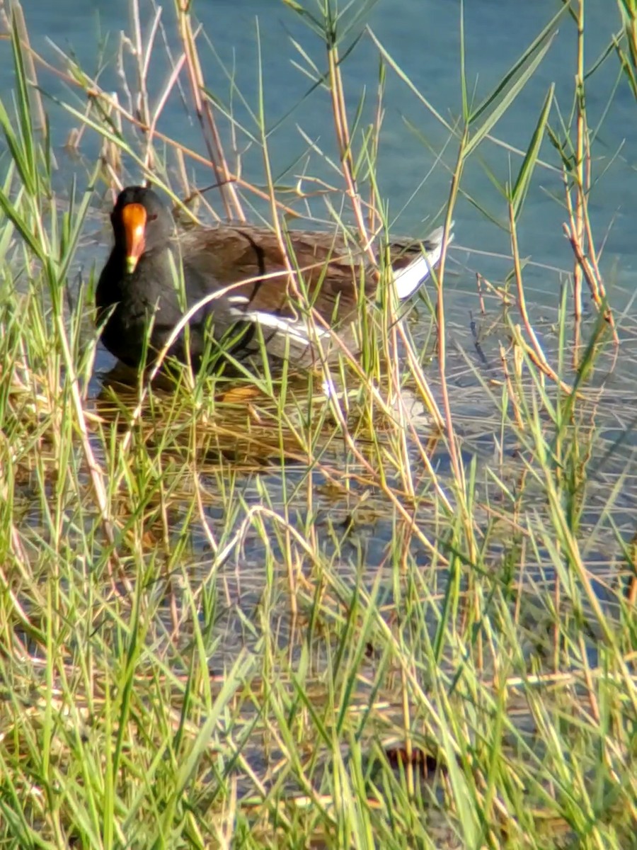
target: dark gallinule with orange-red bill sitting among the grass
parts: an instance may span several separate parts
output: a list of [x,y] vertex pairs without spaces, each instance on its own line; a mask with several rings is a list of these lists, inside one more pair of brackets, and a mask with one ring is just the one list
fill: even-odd
[[[99,277],[95,300],[98,322],[104,322],[102,341],[124,363],[137,367],[144,353],[147,361],[153,360],[183,315],[211,296],[189,319],[189,354],[195,366],[206,338],[212,333],[218,340],[234,327],[231,352],[238,358],[257,351],[262,337],[273,357],[289,354],[297,365],[310,365],[317,339],[324,354],[337,348],[330,329],[356,351],[358,292],[364,285],[367,295],[373,295],[376,280],[363,253],[340,236],[290,231],[292,268],[301,275],[299,288],[307,292],[304,304],[298,290],[293,292],[295,285],[271,230],[217,224],[176,235],[171,212],[143,186],[121,191],[110,220],[115,246]],[[442,228],[422,242],[392,244],[399,299],[408,298],[426,280],[442,251]],[[182,331],[167,353],[185,360],[185,339]]]

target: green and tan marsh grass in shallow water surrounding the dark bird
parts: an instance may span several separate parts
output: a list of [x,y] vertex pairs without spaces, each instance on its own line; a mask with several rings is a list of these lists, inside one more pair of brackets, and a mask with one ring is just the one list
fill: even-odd
[[[130,31],[98,62],[117,91],[59,48],[51,64],[20,4],[4,8],[3,846],[634,846],[637,326],[600,272],[589,206],[604,165],[585,94],[616,63],[637,125],[637,4],[617,0],[599,57],[584,54],[587,0],[562,4],[483,99],[459,16],[453,117],[367,26],[372,6],[276,4],[313,45],[290,35],[291,66],[307,99],[326,96],[336,150],[304,135],[307,156],[281,172],[266,83],[240,90],[196,4],[130,0]],[[499,122],[558,26],[575,47],[572,100],[550,85],[516,150]],[[377,86],[348,102],[362,42]],[[411,314],[379,287],[358,359],[105,375],[93,242],[110,190],[147,178],[184,226],[262,218],[285,246],[303,218],[382,245],[389,77],[444,131],[437,224],[459,198],[482,208],[463,173],[485,145],[510,162],[510,256],[501,280],[474,275],[471,327],[448,285],[471,275],[458,249]],[[166,132],[174,99],[200,126],[197,151]],[[420,131],[406,119],[404,132]],[[537,309],[518,234],[542,173],[561,183],[572,269],[546,269],[559,294]]]

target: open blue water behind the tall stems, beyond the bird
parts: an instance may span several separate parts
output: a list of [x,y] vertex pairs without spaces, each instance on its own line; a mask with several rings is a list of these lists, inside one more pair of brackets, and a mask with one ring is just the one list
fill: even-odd
[[[362,5],[362,4],[359,4]],[[612,4],[614,5],[614,4]],[[130,31],[127,0],[88,0],[78,6],[70,0],[59,3],[41,3],[25,0],[23,4],[33,47],[59,65],[48,39],[65,52],[75,54],[88,73],[104,67],[99,82],[107,90],[121,88],[114,68],[114,58],[120,31]],[[307,8],[313,8],[307,3]],[[533,40],[551,17],[561,8],[558,0],[538,0],[520,3],[519,0],[472,0],[465,3],[466,65],[470,88],[475,87],[479,101],[504,76],[521,52]],[[307,142],[297,127],[302,127],[307,138],[318,144],[327,155],[335,156],[334,133],[330,122],[330,101],[323,90],[309,96],[310,82],[293,61],[304,64],[292,41],[321,68],[324,67],[324,48],[303,26],[298,17],[282,3],[270,0],[239,0],[239,2],[195,3],[194,10],[214,47],[200,39],[200,52],[205,65],[206,82],[223,102],[228,103],[230,84],[221,71],[220,63],[232,69],[234,82],[245,96],[250,108],[258,103],[258,41],[261,42],[263,69],[263,96],[268,127],[276,127],[268,139],[275,176],[286,172],[296,163],[293,173],[300,173],[307,152]],[[592,65],[609,44],[617,29],[617,15],[609,14],[608,0],[589,0],[587,4],[587,61]],[[143,28],[148,30],[152,18],[150,3],[142,3]],[[166,4],[162,20],[166,26],[172,50],[178,54],[174,42],[172,4]],[[258,37],[257,37],[258,21]],[[449,121],[460,111],[459,85],[459,3],[449,0],[379,0],[346,38],[344,49],[363,26],[375,33],[414,86],[431,101],[431,104]],[[101,45],[101,48],[99,48]],[[151,103],[166,82],[167,67],[163,51],[156,50],[151,62],[149,89]],[[0,82],[3,90],[11,85],[10,63],[0,65]],[[572,108],[572,80],[575,69],[575,37],[572,22],[563,18],[560,31],[538,71],[527,88],[516,100],[505,118],[495,128],[494,134],[506,144],[525,149],[531,139],[539,111],[551,82],[555,82],[555,95],[561,113],[568,116]],[[617,59],[611,55],[588,81],[587,107],[591,124],[595,125],[605,115],[595,146],[594,174],[600,177],[590,198],[591,215],[595,232],[601,241],[607,234],[602,271],[611,284],[632,288],[631,281],[637,266],[637,247],[634,242],[632,207],[637,188],[637,105],[628,85],[622,81],[616,87]],[[375,92],[378,82],[378,51],[370,37],[363,37],[344,65],[344,78],[351,114],[358,99],[366,93],[363,125],[374,114]],[[40,71],[42,88],[58,97],[69,99],[65,83]],[[187,86],[185,77],[184,86]],[[614,93],[613,93],[613,89]],[[77,102],[81,106],[81,102]],[[419,100],[388,71],[386,84],[386,116],[381,141],[380,178],[383,196],[390,203],[392,217],[397,218],[394,230],[423,234],[424,220],[436,216],[443,207],[448,192],[448,167],[453,166],[456,145],[452,142],[443,154],[443,161],[434,168],[425,183],[420,181],[434,164],[435,156],[409,129],[413,125],[423,134],[435,151],[443,149],[448,139],[447,131],[426,111]],[[54,105],[48,105],[54,142],[65,142],[71,122]],[[250,132],[256,132],[249,111],[234,97],[234,108],[240,122]],[[285,118],[287,116],[287,118]],[[279,124],[279,122],[282,121]],[[555,110],[551,125],[559,130]],[[199,127],[187,114],[177,95],[166,106],[159,129],[204,153]],[[240,142],[245,147],[243,141]],[[82,151],[90,156],[97,150],[97,141],[87,133]],[[617,155],[617,156],[616,156]],[[558,164],[555,151],[544,144],[544,156]],[[297,161],[301,157],[301,161]],[[519,156],[509,156],[500,147],[485,142],[476,151],[465,170],[463,189],[483,209],[499,222],[505,223],[506,205],[499,191],[488,178],[493,173],[500,184],[514,175],[520,164]],[[63,162],[64,166],[64,162]],[[256,146],[243,155],[245,178],[262,183],[262,160]],[[325,167],[318,156],[310,157],[309,173],[328,177],[340,185],[334,172]],[[603,173],[603,176],[602,176]],[[210,183],[209,173],[199,172],[202,184]],[[293,184],[291,174],[288,184]],[[414,191],[415,190],[415,191]],[[551,195],[556,195],[556,201]],[[550,267],[570,269],[571,249],[564,239],[561,224],[564,211],[561,206],[561,178],[559,173],[540,170],[527,200],[520,228],[520,249],[523,256],[535,263]],[[462,197],[456,208],[457,239],[459,244],[485,252],[510,251],[505,229],[494,226],[488,217]],[[499,279],[509,269],[506,261],[493,258],[463,257],[471,269],[479,269],[488,277]],[[470,286],[473,281],[459,280],[459,286]],[[552,300],[556,292],[555,273],[541,267],[527,271],[527,284],[537,287],[544,297]]]

